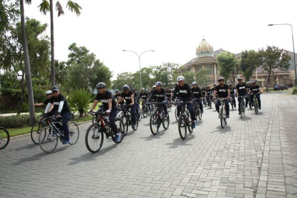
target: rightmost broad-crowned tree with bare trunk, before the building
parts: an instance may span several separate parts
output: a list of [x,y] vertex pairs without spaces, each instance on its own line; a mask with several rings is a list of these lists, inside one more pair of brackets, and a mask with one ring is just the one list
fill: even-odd
[[290,66],[291,56],[284,49],[279,49],[275,46],[267,46],[266,49],[258,50],[259,64],[268,72],[266,91],[270,85],[270,74],[274,68],[288,70]]

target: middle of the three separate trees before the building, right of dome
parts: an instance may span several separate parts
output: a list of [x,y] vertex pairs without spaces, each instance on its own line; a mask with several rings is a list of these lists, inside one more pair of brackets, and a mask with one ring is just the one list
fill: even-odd
[[259,65],[257,53],[254,50],[242,51],[239,64],[246,81],[249,81],[253,71]]

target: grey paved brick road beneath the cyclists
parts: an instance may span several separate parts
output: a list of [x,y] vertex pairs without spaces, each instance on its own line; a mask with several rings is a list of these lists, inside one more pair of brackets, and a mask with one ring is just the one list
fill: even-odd
[[279,198],[297,197],[297,96],[261,95],[258,115],[231,112],[221,129],[206,108],[181,140],[174,111],[169,129],[153,136],[148,118],[115,145],[90,153],[81,124],[74,146],[44,153],[30,137],[0,150],[0,198]]

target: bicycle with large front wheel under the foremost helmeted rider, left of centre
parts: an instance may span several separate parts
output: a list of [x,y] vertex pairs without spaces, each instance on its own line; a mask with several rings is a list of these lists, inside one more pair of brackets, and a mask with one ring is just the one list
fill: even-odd
[[[95,114],[91,112],[91,114]],[[115,119],[115,124],[117,126],[118,133],[124,134],[125,125],[123,121],[119,118]],[[86,147],[90,152],[98,152],[103,145],[103,133],[108,139],[111,137],[112,141],[116,144],[119,144],[123,141],[124,136],[121,136],[119,141],[116,141],[115,135],[113,135],[109,121],[106,119],[106,114],[103,111],[99,112],[99,117],[96,118],[96,122],[90,125],[87,129],[85,136]]]

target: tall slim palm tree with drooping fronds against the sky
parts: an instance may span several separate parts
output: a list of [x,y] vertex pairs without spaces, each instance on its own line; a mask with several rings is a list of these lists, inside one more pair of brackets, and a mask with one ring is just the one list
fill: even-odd
[[[51,73],[51,86],[55,86],[52,0],[42,0],[41,4],[38,7],[40,7],[40,12],[45,15],[47,14],[48,11],[50,11],[50,46],[51,46],[51,67],[50,67],[51,72],[50,73]],[[82,7],[79,4],[77,4],[76,2],[73,2],[72,0],[67,1],[66,7],[68,7],[68,9],[71,12],[75,12],[77,16],[79,16],[81,14],[80,11],[81,11]],[[60,1],[56,2],[55,8],[58,11],[58,17],[60,15],[64,14],[64,11],[63,11]]]

